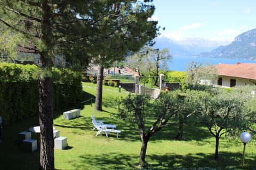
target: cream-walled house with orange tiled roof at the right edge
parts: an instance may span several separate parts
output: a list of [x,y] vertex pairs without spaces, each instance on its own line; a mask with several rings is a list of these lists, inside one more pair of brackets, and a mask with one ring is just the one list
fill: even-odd
[[218,82],[221,87],[256,85],[256,63],[217,64]]

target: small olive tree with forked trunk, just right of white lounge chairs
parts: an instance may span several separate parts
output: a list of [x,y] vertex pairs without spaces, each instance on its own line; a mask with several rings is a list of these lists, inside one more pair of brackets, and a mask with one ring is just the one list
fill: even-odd
[[[161,92],[158,98],[153,102],[149,95],[131,95],[123,99],[118,118],[137,125],[140,138],[140,167],[146,167],[146,151],[150,137],[160,131],[163,126],[167,125],[170,118],[179,111],[180,98],[176,91]],[[151,127],[146,130],[145,125],[149,120],[155,120]]]

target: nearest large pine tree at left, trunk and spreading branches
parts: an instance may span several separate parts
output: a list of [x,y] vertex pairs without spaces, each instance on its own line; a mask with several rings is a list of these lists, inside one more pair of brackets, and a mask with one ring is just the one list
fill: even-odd
[[[93,1],[91,2],[93,3]],[[22,39],[15,42],[23,52],[38,55],[39,125],[41,146],[39,169],[54,169],[52,66],[56,54],[65,54],[67,61],[89,60],[79,44],[87,40],[84,32],[89,20],[78,14],[89,13],[92,4],[83,1],[0,1],[1,31],[10,31]],[[2,35],[2,34],[1,34]],[[18,49],[18,48],[17,48]],[[79,49],[79,50],[78,50]],[[72,58],[70,57],[73,54]]]

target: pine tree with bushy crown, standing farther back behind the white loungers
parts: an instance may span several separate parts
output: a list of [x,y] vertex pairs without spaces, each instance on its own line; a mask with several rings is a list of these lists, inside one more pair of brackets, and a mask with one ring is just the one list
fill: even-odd
[[[157,36],[157,21],[150,21],[153,4],[140,1],[97,1],[97,10],[92,11],[93,27],[92,56],[99,66],[95,110],[102,111],[103,69],[124,56],[152,43]],[[92,50],[93,49],[93,50]]]

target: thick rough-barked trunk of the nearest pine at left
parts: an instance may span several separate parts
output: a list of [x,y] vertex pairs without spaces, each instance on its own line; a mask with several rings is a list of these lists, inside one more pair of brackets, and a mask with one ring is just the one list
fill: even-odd
[[41,128],[39,170],[54,170],[52,59],[49,55],[52,48],[52,16],[47,0],[42,1],[42,8],[42,46],[38,55],[38,105]]

